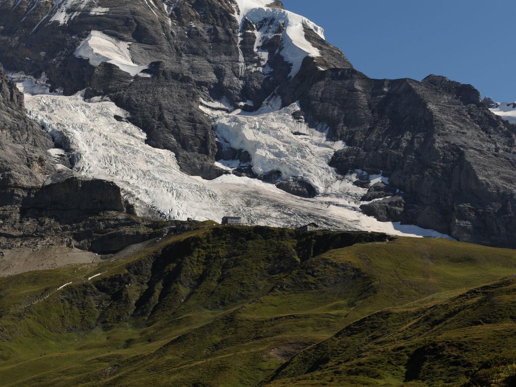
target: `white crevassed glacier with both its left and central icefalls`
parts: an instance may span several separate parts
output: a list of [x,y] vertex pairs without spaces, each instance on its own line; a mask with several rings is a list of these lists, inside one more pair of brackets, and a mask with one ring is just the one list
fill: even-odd
[[[146,135],[138,127],[117,121],[115,115],[127,117],[127,113],[107,100],[85,101],[80,94],[26,94],[26,107],[29,116],[40,122],[57,143],[67,144],[66,151],[75,160],[75,173],[115,182],[140,215],[158,213],[169,219],[220,221],[230,214],[244,217],[249,224],[275,227],[315,221],[331,229],[446,237],[363,215],[358,200],[365,190],[352,184],[356,176],[342,178],[327,165],[333,150],[344,145],[326,141],[324,132],[294,122],[290,113],[297,105],[256,116],[220,111],[212,114],[221,126],[217,134],[247,149],[256,160],[256,170],[279,166],[287,176],[301,174],[320,192],[313,199],[233,174],[213,181],[186,175],[172,152],[148,146]],[[294,130],[307,135],[294,136]]]

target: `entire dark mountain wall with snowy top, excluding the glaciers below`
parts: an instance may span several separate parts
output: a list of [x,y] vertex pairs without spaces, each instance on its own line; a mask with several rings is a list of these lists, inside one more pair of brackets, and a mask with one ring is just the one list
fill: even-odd
[[[514,125],[469,85],[368,78],[318,26],[282,8],[271,0],[6,0],[0,61],[36,78],[44,72],[65,94],[108,96],[148,144],[204,179],[224,171],[203,106],[256,111],[299,101],[305,121],[347,144],[331,161],[340,173],[389,178],[395,197],[365,212],[515,247]],[[294,177],[280,188],[316,194]]]

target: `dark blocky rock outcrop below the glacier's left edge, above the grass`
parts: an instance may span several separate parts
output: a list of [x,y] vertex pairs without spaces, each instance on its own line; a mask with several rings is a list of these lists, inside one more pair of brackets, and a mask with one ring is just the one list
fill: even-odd
[[103,180],[71,178],[15,190],[20,203],[0,205],[2,249],[67,246],[111,253],[163,235],[174,225],[132,215],[120,189]]

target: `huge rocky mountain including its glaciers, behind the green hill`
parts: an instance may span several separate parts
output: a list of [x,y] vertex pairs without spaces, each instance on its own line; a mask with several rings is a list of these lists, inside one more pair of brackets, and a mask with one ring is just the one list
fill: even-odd
[[368,78],[279,1],[5,0],[0,26],[58,169],[139,216],[516,247],[515,126],[469,85]]

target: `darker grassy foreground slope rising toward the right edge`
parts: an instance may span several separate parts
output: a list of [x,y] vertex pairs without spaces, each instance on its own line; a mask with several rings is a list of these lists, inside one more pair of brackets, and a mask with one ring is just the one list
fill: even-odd
[[364,317],[299,353],[270,385],[516,385],[516,277]]

